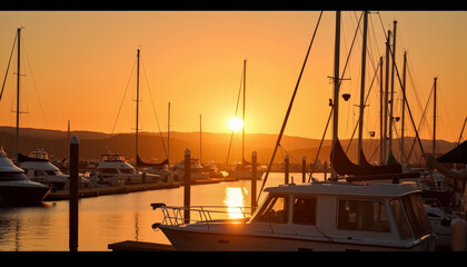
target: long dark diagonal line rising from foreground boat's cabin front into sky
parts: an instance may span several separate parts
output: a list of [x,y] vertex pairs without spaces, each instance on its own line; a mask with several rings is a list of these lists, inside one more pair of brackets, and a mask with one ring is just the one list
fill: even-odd
[[294,105],[295,96],[297,95],[297,89],[298,89],[298,86],[300,85],[300,79],[301,79],[301,76],[304,73],[305,66],[307,65],[308,56],[310,53],[312,42],[315,41],[316,32],[318,30],[319,22],[321,21],[321,17],[322,17],[322,11],[319,13],[318,22],[316,23],[315,32],[312,33],[312,38],[311,38],[310,44],[308,47],[307,56],[305,56],[305,60],[304,60],[304,65],[301,66],[300,75],[298,76],[298,80],[297,80],[297,83],[295,86],[294,93],[292,93],[292,97],[290,99],[286,117],[284,118],[282,127],[280,128],[279,136],[277,137],[276,147],[274,149],[271,160],[269,161],[269,166],[268,166],[268,170],[266,171],[265,179],[262,180],[261,190],[259,190],[259,194],[258,194],[258,198],[257,198],[258,200],[261,196],[262,189],[265,188],[266,181],[268,180],[268,175],[269,175],[269,171],[271,170],[274,158],[275,158],[276,152],[277,152],[277,148],[279,147],[280,140],[282,139],[284,130],[286,129],[287,120],[289,119],[289,115],[290,115],[291,107]]

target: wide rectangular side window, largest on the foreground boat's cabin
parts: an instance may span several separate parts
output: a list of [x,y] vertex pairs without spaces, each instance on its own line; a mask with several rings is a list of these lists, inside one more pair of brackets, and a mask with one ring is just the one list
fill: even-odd
[[382,200],[339,199],[338,228],[366,231],[389,231]]

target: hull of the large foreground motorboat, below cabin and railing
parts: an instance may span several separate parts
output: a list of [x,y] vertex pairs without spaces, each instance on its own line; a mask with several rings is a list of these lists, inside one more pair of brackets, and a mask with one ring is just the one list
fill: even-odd
[[159,228],[178,251],[427,251],[435,250],[434,241],[396,247],[358,244],[352,240],[328,240],[317,237],[300,238],[292,235],[261,235],[254,233],[220,233],[196,230],[188,227],[161,225]]

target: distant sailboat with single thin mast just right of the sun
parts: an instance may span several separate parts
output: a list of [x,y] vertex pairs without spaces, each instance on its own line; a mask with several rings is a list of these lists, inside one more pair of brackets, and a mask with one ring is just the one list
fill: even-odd
[[[247,60],[244,60],[244,122],[245,122],[245,100],[246,100],[246,71],[247,71]],[[242,135],[241,135],[241,162],[235,164],[234,168],[227,170],[228,177],[230,178],[237,178],[237,179],[248,179],[251,180],[251,162],[248,162],[245,160],[245,123],[242,127]],[[260,168],[258,168],[256,172],[256,179],[260,180],[262,178],[262,171]]]

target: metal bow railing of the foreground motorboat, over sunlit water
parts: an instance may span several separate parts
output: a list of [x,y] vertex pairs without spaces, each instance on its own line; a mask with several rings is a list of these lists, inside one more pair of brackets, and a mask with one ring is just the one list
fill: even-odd
[[215,222],[246,222],[252,211],[251,207],[232,206],[166,206],[165,204],[151,204],[152,209],[160,209],[163,215],[161,224],[152,225],[157,229],[159,225],[181,226],[188,224],[206,224],[208,229]]

